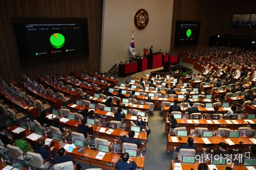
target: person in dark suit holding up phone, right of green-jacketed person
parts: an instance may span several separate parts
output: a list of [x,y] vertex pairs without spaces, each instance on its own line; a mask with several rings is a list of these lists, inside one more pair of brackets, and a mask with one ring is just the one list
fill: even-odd
[[[54,146],[52,146],[50,148],[50,151],[47,150],[47,148],[49,148],[51,142],[48,145],[45,145],[45,140],[44,139],[40,139],[37,142],[37,145],[35,145],[35,153],[40,154],[43,159],[45,160],[47,157],[49,157],[51,154],[53,155],[53,157],[55,156],[55,152],[52,152],[52,150],[54,149]],[[52,158],[48,158],[47,161],[51,161]]]

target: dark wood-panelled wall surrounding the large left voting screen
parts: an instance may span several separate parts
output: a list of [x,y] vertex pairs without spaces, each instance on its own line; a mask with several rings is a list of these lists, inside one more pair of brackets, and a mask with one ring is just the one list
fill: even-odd
[[[102,5],[103,0],[0,0],[0,77],[20,82],[24,74],[36,80],[44,72],[99,70]],[[12,17],[88,18],[90,57],[21,67]]]

